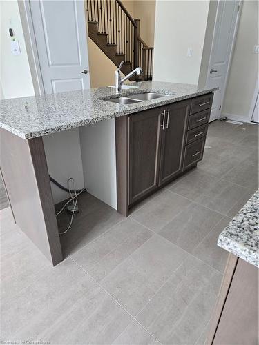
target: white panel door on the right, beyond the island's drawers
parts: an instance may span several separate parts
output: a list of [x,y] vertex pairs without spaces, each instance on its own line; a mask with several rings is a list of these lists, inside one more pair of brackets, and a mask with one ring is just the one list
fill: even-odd
[[239,4],[240,1],[235,0],[218,1],[207,86],[209,88],[218,87],[219,90],[214,93],[210,121],[220,117],[231,50],[236,33]]

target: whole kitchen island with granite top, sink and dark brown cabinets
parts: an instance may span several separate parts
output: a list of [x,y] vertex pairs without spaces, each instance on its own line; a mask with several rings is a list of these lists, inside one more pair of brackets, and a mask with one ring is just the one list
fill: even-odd
[[[86,188],[99,199],[103,188],[98,195],[90,186],[102,185],[95,175],[105,167],[93,171],[100,152],[95,148],[104,141],[103,148],[115,152],[115,187],[110,186],[106,175],[103,181],[113,198],[104,196],[103,201],[110,204],[115,195],[117,202],[110,205],[124,216],[137,202],[195,167],[203,157],[212,92],[216,89],[156,81],[131,85],[137,88],[120,94],[114,88],[97,88],[1,101],[1,175],[12,213],[17,225],[53,265],[63,259],[49,180],[49,155],[59,138],[52,137],[52,145],[47,145],[48,135],[80,129],[80,169]],[[126,105],[111,101],[148,92],[162,97]],[[111,135],[106,142],[105,132],[91,134],[94,124],[104,120],[114,121],[109,122],[114,141]],[[69,163],[66,152],[59,152],[58,156],[62,155]],[[109,155],[103,154],[105,159]],[[52,161],[55,165],[55,159]],[[75,173],[80,170],[76,164],[73,168]],[[106,170],[108,175],[111,167]]]

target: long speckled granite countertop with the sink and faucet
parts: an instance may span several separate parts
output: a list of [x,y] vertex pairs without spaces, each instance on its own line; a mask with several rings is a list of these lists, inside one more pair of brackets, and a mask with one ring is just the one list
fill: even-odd
[[[138,88],[123,90],[119,95],[116,95],[115,88],[106,87],[4,99],[0,107],[0,128],[23,139],[31,139],[218,90],[160,81],[142,81],[131,85]],[[126,106],[104,100],[140,92],[160,92],[170,96]]]

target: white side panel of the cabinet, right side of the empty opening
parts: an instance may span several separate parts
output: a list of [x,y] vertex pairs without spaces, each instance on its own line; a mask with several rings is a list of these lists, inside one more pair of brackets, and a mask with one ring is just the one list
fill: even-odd
[[117,210],[115,120],[79,128],[88,192]]

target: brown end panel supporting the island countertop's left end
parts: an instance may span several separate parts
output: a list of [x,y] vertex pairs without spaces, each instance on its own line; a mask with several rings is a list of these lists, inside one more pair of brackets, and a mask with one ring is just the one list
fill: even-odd
[[42,138],[0,134],[1,174],[15,221],[55,266],[63,256]]

